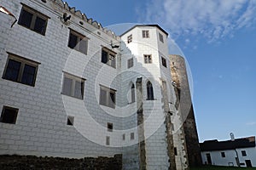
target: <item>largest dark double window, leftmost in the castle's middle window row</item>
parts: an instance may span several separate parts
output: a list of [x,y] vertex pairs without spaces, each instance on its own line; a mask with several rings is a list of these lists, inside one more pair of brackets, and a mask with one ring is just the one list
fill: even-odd
[[35,86],[37,72],[38,62],[9,54],[3,71],[3,79]]

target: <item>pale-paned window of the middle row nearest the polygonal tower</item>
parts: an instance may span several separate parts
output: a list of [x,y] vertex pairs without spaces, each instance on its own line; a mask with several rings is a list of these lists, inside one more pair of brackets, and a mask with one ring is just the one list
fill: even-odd
[[105,105],[115,108],[115,93],[116,90],[101,86],[100,89],[100,105]]

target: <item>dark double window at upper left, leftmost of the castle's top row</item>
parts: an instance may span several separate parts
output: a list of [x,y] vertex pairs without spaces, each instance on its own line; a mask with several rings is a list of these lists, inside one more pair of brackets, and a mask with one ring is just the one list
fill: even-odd
[[38,32],[39,34],[45,35],[48,18],[49,17],[46,15],[23,5],[18,24],[20,26],[25,26],[32,31]]

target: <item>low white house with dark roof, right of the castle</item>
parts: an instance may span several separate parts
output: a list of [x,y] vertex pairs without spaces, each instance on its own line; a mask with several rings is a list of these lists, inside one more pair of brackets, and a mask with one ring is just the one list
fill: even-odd
[[255,136],[225,141],[206,140],[200,146],[203,164],[256,167]]

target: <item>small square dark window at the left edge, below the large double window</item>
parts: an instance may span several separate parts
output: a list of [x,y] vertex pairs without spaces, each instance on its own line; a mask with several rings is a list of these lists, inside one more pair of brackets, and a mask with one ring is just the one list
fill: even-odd
[[15,124],[19,109],[3,106],[0,122]]

